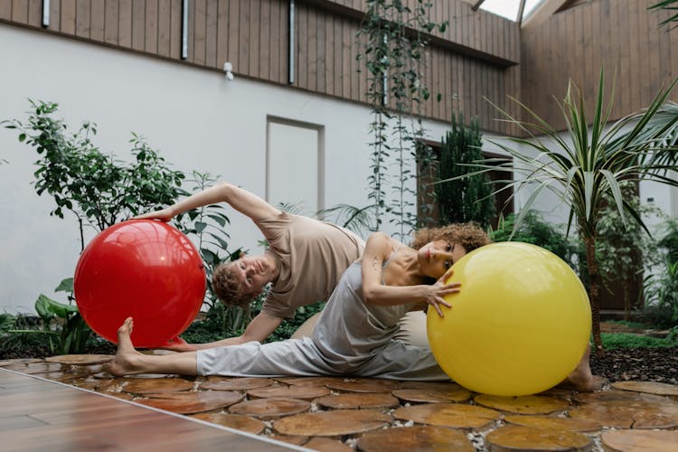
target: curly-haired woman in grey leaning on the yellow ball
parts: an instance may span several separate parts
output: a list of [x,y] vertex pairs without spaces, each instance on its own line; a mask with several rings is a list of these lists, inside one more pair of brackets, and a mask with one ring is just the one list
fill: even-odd
[[[118,353],[111,372],[447,381],[449,377],[438,367],[430,349],[392,338],[400,317],[410,310],[433,306],[438,315],[444,315],[441,305],[452,307],[445,297],[457,293],[460,286],[447,282],[452,265],[489,241],[473,224],[419,231],[414,248],[381,232],[372,234],[363,258],[344,272],[311,337],[145,355],[134,350],[129,337],[132,319],[128,318],[118,330]],[[575,386],[580,386],[578,380],[590,377],[588,357],[582,367],[584,362],[582,359],[575,371]]]

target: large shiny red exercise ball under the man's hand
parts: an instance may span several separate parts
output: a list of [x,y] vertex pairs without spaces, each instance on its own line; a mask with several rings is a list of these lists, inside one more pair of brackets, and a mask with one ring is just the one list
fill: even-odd
[[80,315],[97,334],[118,342],[118,327],[134,317],[132,343],[159,347],[184,332],[198,314],[205,271],[191,240],[162,221],[111,226],[82,251],[73,280]]

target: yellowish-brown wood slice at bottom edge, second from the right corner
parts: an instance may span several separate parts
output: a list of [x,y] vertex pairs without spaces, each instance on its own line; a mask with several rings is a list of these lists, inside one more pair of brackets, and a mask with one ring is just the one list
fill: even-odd
[[568,430],[505,426],[491,431],[485,445],[497,452],[531,451],[589,451],[593,440],[586,435]]

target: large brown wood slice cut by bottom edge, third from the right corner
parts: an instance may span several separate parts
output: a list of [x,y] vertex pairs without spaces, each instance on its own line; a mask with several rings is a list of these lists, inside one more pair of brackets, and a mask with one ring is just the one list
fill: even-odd
[[391,452],[393,450],[473,452],[476,450],[463,431],[433,426],[371,431],[358,439],[358,448],[364,452]]

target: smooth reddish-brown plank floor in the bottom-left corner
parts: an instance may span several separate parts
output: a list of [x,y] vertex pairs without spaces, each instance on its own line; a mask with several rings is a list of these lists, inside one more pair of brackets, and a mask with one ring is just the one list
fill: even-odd
[[3,451],[296,448],[5,369],[0,438]]

